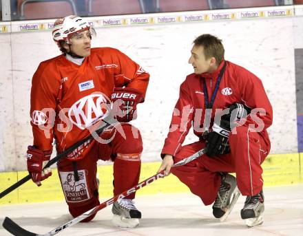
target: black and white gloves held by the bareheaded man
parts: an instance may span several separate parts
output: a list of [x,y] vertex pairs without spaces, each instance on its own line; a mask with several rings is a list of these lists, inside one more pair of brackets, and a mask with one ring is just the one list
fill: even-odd
[[250,112],[249,107],[240,103],[233,103],[229,107],[229,114],[222,116],[220,125],[216,122],[213,124],[213,131],[208,133],[206,138],[207,155],[209,157],[227,154],[231,151],[229,148],[229,133],[236,126],[235,122],[246,117]]

